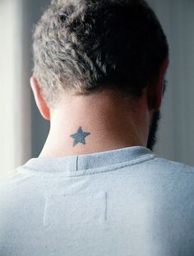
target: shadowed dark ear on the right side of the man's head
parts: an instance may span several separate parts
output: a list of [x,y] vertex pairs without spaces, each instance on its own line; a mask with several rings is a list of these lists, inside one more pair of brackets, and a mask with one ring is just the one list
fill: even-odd
[[150,109],[158,110],[162,103],[164,94],[164,77],[169,67],[169,59],[166,58],[162,63],[159,74],[148,86],[148,104]]

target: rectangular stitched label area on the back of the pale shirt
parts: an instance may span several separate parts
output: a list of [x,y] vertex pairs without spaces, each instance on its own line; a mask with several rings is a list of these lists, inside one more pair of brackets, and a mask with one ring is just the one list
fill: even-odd
[[74,226],[104,224],[106,220],[106,192],[46,195],[44,226]]

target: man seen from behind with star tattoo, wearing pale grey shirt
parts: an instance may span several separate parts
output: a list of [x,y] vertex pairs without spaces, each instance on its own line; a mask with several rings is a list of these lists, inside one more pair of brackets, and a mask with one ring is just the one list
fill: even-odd
[[143,0],[55,0],[30,84],[50,132],[7,175],[0,255],[194,255],[194,169],[151,151],[169,49]]

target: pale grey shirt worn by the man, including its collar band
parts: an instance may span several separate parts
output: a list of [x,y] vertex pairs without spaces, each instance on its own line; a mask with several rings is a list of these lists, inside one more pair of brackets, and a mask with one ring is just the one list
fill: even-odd
[[193,256],[194,168],[146,147],[32,158],[1,179],[1,256]]

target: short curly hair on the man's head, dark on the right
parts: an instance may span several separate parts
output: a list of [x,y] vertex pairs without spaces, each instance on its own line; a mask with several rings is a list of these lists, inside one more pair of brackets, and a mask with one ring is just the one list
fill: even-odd
[[53,0],[34,34],[34,76],[48,105],[60,91],[139,97],[169,56],[144,0]]

